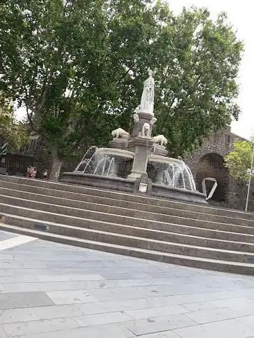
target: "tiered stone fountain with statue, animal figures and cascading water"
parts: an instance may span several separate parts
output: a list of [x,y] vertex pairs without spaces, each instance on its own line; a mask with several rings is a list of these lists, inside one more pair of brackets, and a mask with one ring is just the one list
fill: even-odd
[[131,135],[121,128],[112,131],[108,148],[91,147],[61,181],[207,204],[206,194],[196,190],[190,168],[181,158],[168,157],[164,135],[152,137],[156,122],[152,71],[133,118]]

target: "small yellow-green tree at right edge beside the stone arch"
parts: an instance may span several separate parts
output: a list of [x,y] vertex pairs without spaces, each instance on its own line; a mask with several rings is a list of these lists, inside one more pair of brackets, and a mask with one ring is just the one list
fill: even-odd
[[248,172],[248,169],[251,169],[253,147],[253,141],[235,140],[233,144],[233,151],[228,153],[224,159],[225,165],[229,169],[230,175],[233,176],[233,178],[242,181],[247,181],[249,179],[250,173]]

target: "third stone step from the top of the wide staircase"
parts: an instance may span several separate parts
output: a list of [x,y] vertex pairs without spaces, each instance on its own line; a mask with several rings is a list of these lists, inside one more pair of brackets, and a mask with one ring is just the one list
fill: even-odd
[[[11,197],[0,195],[0,201],[7,205],[16,205],[22,207],[23,205],[29,206],[30,209],[37,209],[46,212],[55,212],[57,214],[68,214],[80,218],[91,218],[96,220],[104,220],[106,222],[124,224],[124,225],[137,225],[145,227],[149,223],[150,227],[154,227],[156,223],[160,222],[161,225],[168,223],[188,225],[189,227],[202,227],[204,229],[216,229],[224,232],[239,232],[241,234],[254,234],[254,227],[246,227],[242,225],[232,225],[227,223],[215,223],[207,220],[196,220],[193,218],[183,218],[179,216],[170,216],[165,214],[146,213],[145,218],[137,218],[125,215],[109,214],[107,212],[94,212],[90,209],[79,209],[75,207],[67,207],[62,205],[53,205],[51,203],[42,203],[35,200],[25,200],[23,198]],[[131,210],[133,212],[133,210]],[[126,214],[128,214],[128,209]],[[138,212],[137,212],[138,214]],[[136,216],[136,215],[135,215]]]

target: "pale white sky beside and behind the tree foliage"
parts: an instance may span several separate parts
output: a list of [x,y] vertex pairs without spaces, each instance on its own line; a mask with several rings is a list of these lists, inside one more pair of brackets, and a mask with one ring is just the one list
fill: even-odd
[[[183,6],[206,7],[213,18],[221,11],[227,12],[228,21],[237,31],[237,37],[244,42],[244,55],[239,69],[238,104],[241,115],[238,121],[233,121],[231,131],[243,138],[254,135],[253,79],[254,79],[254,38],[253,38],[253,4],[251,0],[167,0],[170,8],[177,14]],[[24,109],[18,109],[17,118],[26,115]]]

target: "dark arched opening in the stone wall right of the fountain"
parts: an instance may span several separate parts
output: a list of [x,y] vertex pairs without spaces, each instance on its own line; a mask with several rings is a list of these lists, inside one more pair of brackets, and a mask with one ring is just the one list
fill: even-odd
[[[203,178],[212,177],[217,180],[217,189],[213,194],[211,200],[215,202],[228,201],[228,169],[224,166],[224,158],[218,153],[208,153],[199,160],[196,173],[197,189],[202,191]],[[212,182],[208,182],[208,191],[212,188]]]

